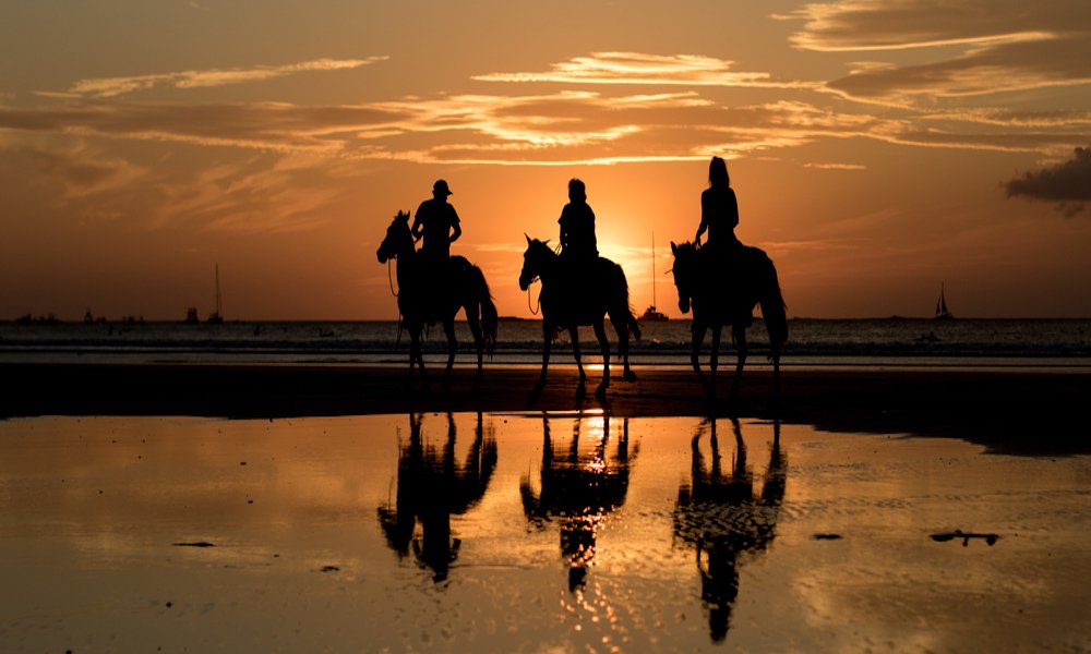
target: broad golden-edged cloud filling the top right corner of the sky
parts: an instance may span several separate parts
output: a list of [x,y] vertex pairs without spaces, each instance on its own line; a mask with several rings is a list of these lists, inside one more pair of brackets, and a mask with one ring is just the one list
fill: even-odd
[[840,0],[778,16],[802,20],[801,49],[870,52],[930,49],[928,63],[867,61],[828,88],[883,105],[1091,84],[1091,23],[1078,0]]

